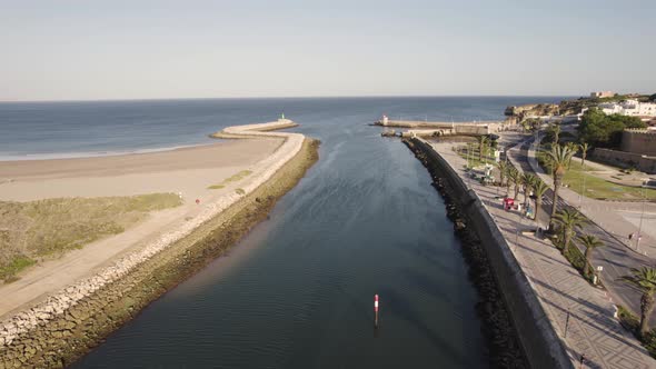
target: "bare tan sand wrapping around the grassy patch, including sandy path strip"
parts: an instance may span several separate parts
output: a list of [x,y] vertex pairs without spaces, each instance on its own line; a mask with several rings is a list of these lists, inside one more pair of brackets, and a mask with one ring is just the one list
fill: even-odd
[[[20,279],[0,283],[0,317],[39,301],[48,292],[92,276],[116,258],[156,240],[198,216],[205,203],[246,186],[265,170],[267,158],[282,138],[226,140],[218,143],[152,153],[113,157],[0,161],[0,200],[32,201],[58,197],[131,196],[153,192],[180,192],[183,205],[152,212],[125,232],[91,242],[61,258],[42,260],[20,275]],[[208,189],[240,171],[252,171],[222,189]],[[200,200],[200,205],[196,203]]]

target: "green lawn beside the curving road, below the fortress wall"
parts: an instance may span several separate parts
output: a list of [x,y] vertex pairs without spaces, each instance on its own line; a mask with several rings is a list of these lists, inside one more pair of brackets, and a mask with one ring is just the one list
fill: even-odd
[[[536,157],[540,163],[540,167],[543,167],[545,172],[549,173],[549,166],[545,163],[544,160],[546,153],[539,151],[536,152]],[[656,190],[613,183],[603,178],[586,172],[593,170],[594,169],[588,166],[586,166],[584,170],[578,158],[571,159],[571,164],[563,178],[563,183],[569,186],[570,190],[580,195],[584,191],[583,184],[585,178],[585,196],[593,199],[639,200],[643,198],[644,192],[644,196],[647,199],[656,200]]]

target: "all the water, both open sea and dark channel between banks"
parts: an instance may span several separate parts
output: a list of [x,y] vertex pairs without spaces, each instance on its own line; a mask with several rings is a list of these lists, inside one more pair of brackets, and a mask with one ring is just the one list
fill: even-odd
[[[211,142],[285,112],[320,160],[226,258],[146,308],[77,368],[485,368],[476,292],[428,172],[369,127],[501,119],[557,98],[0,103],[1,159]],[[380,329],[372,297],[380,295]]]

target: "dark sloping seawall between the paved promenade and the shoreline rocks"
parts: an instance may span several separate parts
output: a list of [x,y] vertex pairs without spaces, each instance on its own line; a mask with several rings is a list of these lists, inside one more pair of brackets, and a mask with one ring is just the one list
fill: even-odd
[[[480,243],[521,350],[531,368],[571,368],[571,362],[538,298],[483,202],[426,141],[413,138],[408,147],[444,187]],[[468,247],[468,246],[464,246]],[[480,262],[480,261],[479,261]],[[478,276],[473,276],[476,279]],[[494,316],[494,315],[493,315]],[[486,319],[486,317],[483,317]],[[489,322],[488,322],[489,323]],[[494,321],[493,321],[494,323]],[[493,352],[494,356],[494,352]]]

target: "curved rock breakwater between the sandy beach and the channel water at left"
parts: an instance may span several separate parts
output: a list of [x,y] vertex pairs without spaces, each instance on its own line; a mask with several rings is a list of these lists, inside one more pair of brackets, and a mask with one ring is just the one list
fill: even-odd
[[63,367],[85,355],[141,308],[221,256],[318,159],[318,141],[268,132],[289,120],[226,128],[217,137],[277,137],[284,143],[261,163],[243,192],[205,205],[195,218],[162,233],[95,276],[51,293],[0,322],[0,369]]

